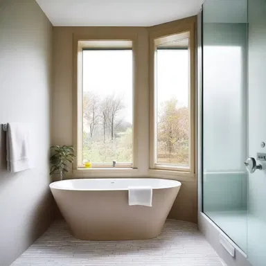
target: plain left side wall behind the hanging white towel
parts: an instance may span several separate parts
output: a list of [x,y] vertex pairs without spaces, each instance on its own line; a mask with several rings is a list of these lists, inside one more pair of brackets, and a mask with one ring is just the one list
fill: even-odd
[[10,265],[48,227],[53,28],[34,0],[0,2],[0,123],[29,123],[37,136],[31,170],[6,170],[0,129],[0,265]]

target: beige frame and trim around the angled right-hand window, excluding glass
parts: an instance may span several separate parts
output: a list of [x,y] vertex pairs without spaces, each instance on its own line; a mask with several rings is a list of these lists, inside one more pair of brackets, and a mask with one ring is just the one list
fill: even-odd
[[[195,132],[195,89],[196,89],[196,69],[195,69],[195,17],[176,21],[175,24],[162,24],[150,28],[150,175],[181,175],[184,177],[195,177],[195,157],[196,157],[196,132]],[[175,35],[180,35],[179,39],[184,39],[182,35],[189,35],[188,54],[190,65],[190,88],[189,88],[189,114],[190,114],[190,146],[189,146],[189,167],[163,165],[157,163],[157,106],[156,106],[156,51],[157,46],[177,40]]]

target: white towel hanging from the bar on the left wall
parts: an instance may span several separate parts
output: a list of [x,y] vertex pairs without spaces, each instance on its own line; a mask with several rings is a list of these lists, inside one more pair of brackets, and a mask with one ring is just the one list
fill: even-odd
[[6,132],[6,155],[9,172],[19,172],[30,168],[29,132],[22,123],[8,123]]

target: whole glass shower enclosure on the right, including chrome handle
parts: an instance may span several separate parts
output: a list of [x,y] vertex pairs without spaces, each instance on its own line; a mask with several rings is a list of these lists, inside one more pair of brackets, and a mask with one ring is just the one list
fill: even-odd
[[202,11],[202,210],[266,265],[266,0]]

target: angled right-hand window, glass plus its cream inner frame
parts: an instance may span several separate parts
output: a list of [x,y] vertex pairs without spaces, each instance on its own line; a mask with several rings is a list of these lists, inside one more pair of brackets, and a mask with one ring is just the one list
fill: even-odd
[[[152,40],[153,169],[194,171],[193,54],[190,32]],[[193,76],[193,77],[191,77]]]

